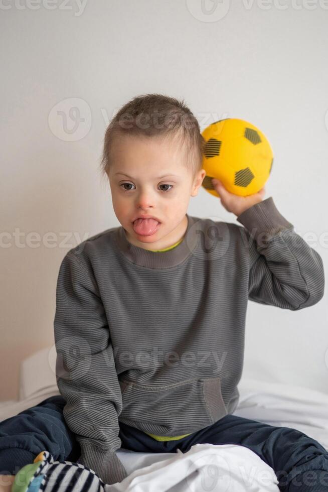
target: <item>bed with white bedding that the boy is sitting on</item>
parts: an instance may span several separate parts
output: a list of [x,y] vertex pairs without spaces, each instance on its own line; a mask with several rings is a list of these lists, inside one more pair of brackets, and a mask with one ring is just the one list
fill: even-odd
[[[0,402],[0,421],[59,395],[55,358],[54,348],[47,347],[23,360],[19,398]],[[328,451],[328,394],[245,378],[238,389],[240,401],[234,415],[298,429]],[[116,453],[129,476],[121,483],[107,484],[106,492],[279,491],[273,469],[243,446],[197,444],[187,453],[139,453],[121,448]]]

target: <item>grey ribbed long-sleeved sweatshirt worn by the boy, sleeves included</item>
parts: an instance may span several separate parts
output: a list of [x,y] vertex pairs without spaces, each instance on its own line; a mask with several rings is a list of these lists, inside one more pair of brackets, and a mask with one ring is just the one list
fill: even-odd
[[64,257],[54,319],[56,377],[80,462],[105,483],[127,476],[119,422],[180,436],[234,412],[248,300],[296,311],[323,296],[319,254],[272,197],[237,217],[187,214],[175,248],[131,244],[122,226]]

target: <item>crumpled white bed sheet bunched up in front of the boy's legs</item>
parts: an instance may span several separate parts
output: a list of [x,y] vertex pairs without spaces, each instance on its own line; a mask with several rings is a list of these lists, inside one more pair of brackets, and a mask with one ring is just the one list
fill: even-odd
[[[168,458],[168,455],[172,457]],[[122,455],[119,457],[122,459]],[[277,484],[273,469],[246,447],[234,444],[195,444],[187,453],[167,453],[160,461],[157,459],[149,465],[143,463],[142,468],[133,470],[120,483],[106,485],[105,490],[279,492]]]

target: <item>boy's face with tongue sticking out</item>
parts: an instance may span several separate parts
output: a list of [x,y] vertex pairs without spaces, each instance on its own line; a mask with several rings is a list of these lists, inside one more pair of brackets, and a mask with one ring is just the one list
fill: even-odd
[[[205,170],[193,178],[180,144],[158,137],[121,136],[115,139],[111,157],[113,208],[128,241],[147,250],[179,241],[187,229],[190,197],[197,195]],[[139,228],[133,226],[138,215],[152,215],[159,221],[153,233],[148,234],[156,222],[143,222],[143,228],[138,221]]]

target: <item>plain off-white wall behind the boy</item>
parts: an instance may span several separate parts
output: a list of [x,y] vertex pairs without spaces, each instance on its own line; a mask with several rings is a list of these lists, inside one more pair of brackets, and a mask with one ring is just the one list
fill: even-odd
[[[20,361],[53,343],[68,249],[119,225],[99,162],[108,119],[137,94],[183,97],[202,130],[225,117],[258,126],[275,155],[265,197],[313,233],[327,272],[328,2],[204,5],[213,13],[201,0],[2,0],[0,399],[17,397]],[[204,189],[188,211],[235,222]],[[326,305],[250,302],[244,376],[327,391]]]

